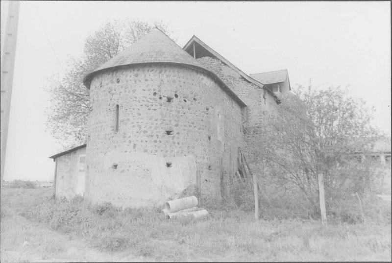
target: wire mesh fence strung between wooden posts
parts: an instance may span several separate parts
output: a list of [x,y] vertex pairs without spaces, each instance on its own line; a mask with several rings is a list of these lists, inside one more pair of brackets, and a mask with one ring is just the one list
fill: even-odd
[[[391,166],[374,160],[366,165],[370,171],[367,176],[357,174],[335,182],[324,177],[322,199],[329,223],[391,223]],[[260,163],[249,162],[248,166],[250,173],[257,174],[260,218],[321,220],[317,178],[313,178],[315,187],[303,189],[294,181],[277,176],[276,171],[261,169]],[[231,176],[226,204],[250,213],[255,209],[254,188],[251,176],[244,173],[240,168]]]

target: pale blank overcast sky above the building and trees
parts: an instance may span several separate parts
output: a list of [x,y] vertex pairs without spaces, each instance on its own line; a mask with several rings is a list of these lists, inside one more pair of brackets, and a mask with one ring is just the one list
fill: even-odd
[[[1,1],[1,39],[7,1]],[[287,69],[290,82],[348,87],[391,136],[390,2],[22,1],[4,180],[52,180],[44,91],[68,55],[108,19],[160,19],[183,47],[196,35],[247,74]],[[1,41],[1,46],[3,45]]]

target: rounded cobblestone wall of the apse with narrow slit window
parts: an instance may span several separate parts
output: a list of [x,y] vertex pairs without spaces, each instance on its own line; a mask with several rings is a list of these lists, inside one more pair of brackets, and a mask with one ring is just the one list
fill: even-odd
[[92,79],[90,105],[87,198],[160,206],[196,184],[196,169],[202,196],[221,198],[237,168],[245,111],[208,75],[163,64],[102,72]]

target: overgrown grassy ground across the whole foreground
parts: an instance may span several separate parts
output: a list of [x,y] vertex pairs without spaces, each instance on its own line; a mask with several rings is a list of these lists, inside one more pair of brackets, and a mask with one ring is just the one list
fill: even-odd
[[55,200],[52,188],[1,189],[1,262],[391,261],[391,225],[259,220]]

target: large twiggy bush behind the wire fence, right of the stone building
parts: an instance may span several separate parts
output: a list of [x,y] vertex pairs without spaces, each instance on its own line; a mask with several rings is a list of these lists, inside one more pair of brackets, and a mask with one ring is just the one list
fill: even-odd
[[300,86],[265,115],[262,126],[246,131],[249,150],[270,178],[302,191],[317,213],[319,173],[327,195],[366,188],[370,166],[354,156],[370,150],[379,136],[370,125],[371,113],[362,99],[347,96],[340,87]]

